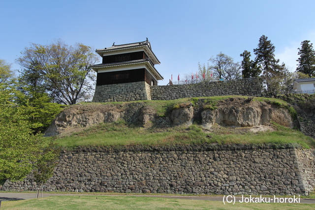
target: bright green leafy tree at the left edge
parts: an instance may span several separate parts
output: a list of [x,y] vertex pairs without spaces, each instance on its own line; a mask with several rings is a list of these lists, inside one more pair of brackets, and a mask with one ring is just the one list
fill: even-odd
[[28,107],[16,103],[21,94],[0,84],[0,179],[23,179],[47,153],[42,134],[30,128]]

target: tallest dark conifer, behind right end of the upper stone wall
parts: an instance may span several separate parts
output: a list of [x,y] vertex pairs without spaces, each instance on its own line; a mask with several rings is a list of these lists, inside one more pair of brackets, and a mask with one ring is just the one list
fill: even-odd
[[273,46],[271,41],[267,39],[267,36],[262,35],[259,38],[258,47],[253,51],[256,55],[255,62],[257,63],[257,65],[262,66],[262,77],[267,87],[267,91],[271,92],[271,79],[275,76],[280,76],[280,74],[284,70],[284,64],[278,64],[280,60],[275,59],[275,47]]

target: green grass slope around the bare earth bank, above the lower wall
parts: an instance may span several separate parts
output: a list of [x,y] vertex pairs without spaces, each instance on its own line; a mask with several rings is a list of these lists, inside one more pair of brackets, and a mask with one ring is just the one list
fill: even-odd
[[[209,106],[215,107],[216,101],[228,97],[247,96],[216,96],[206,97]],[[288,104],[275,98],[258,98],[254,101],[269,101],[270,103],[288,107]],[[170,101],[139,101],[146,103],[157,110],[159,116],[167,116],[169,110],[180,104],[193,104],[197,98],[183,98]],[[116,102],[122,104],[122,102]],[[86,103],[88,105],[89,103]],[[114,103],[115,104],[115,103]],[[294,114],[294,113],[293,113]],[[127,125],[123,121],[115,123],[101,123],[70,136],[56,138],[55,142],[67,148],[78,146],[121,146],[121,145],[185,145],[185,144],[299,144],[304,148],[314,148],[315,140],[305,136],[299,131],[274,124],[275,131],[260,133],[235,134],[229,129],[220,128],[219,131],[206,133],[200,125],[193,124],[189,127],[178,126],[171,128],[143,128],[135,125]],[[240,133],[240,132],[238,132]],[[241,132],[242,133],[242,132]],[[208,138],[207,135],[211,135]]]

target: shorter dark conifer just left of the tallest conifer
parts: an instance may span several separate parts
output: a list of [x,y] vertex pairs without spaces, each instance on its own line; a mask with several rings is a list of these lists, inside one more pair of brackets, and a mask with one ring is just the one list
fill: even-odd
[[257,63],[251,60],[251,52],[244,50],[244,52],[240,55],[243,57],[242,60],[242,77],[250,78],[250,77],[258,77],[261,74],[260,66],[257,66]]

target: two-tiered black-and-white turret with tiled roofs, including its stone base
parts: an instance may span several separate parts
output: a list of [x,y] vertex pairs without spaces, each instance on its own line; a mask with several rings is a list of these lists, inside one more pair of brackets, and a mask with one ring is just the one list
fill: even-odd
[[163,77],[154,67],[159,60],[148,41],[115,45],[95,51],[102,63],[92,65],[97,72],[93,102],[150,100],[150,86]]

